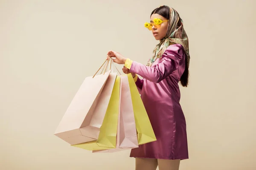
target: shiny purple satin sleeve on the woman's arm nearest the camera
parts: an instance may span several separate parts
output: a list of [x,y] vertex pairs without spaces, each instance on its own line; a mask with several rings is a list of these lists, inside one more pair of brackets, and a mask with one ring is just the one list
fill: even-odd
[[132,61],[130,71],[140,75],[148,81],[158,83],[179,67],[182,57],[183,46],[180,44],[170,45],[163,53],[162,61],[154,67],[149,67]]

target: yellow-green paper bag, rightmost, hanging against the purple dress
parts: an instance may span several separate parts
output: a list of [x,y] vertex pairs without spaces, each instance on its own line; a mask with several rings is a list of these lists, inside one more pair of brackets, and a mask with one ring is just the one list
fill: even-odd
[[131,100],[134,109],[135,124],[139,145],[156,141],[153,128],[148,118],[137,86],[131,74],[128,74],[128,81],[131,90]]

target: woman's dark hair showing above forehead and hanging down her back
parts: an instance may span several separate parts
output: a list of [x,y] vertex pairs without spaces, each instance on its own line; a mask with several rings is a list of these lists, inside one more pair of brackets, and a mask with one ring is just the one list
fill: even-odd
[[[170,11],[169,11],[169,8],[168,6],[160,6],[159,8],[155,8],[151,15],[153,14],[159,14],[159,15],[162,15],[163,17],[165,17],[166,19],[169,20],[169,17],[170,17]],[[150,15],[150,17],[151,17]],[[181,22],[179,21],[178,22],[178,26],[180,26]],[[189,84],[189,67],[188,67],[188,62],[187,62],[187,57],[185,57],[185,70],[183,72],[183,74],[181,75],[180,77],[180,84],[183,86],[183,87],[187,87],[188,84]]]

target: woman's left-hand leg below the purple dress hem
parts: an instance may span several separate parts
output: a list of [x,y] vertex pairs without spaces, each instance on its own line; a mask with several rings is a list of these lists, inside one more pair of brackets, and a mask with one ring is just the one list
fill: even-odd
[[157,159],[135,158],[135,170],[156,170]]

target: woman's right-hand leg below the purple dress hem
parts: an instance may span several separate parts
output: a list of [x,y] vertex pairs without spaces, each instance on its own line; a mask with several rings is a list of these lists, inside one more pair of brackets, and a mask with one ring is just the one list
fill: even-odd
[[180,167],[180,159],[157,159],[157,162],[159,170],[179,170]]

